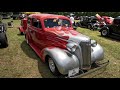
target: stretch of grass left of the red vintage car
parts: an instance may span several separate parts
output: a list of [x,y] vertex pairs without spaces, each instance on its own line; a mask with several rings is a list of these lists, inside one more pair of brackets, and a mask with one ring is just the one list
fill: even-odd
[[[8,20],[4,20],[7,22]],[[1,78],[51,78],[54,77],[46,64],[26,44],[24,35],[19,35],[20,20],[14,20],[14,28],[8,28],[9,46],[0,49]]]

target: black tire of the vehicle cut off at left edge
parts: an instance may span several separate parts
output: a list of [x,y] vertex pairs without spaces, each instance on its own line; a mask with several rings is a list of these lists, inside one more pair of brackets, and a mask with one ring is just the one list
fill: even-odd
[[0,33],[0,44],[2,48],[8,47],[8,40],[7,40],[6,33]]

